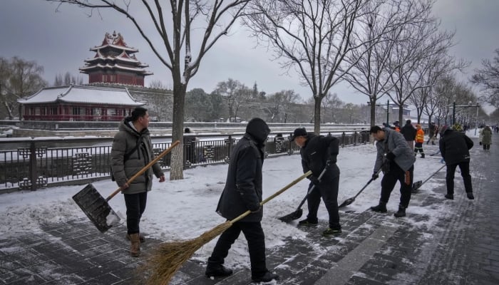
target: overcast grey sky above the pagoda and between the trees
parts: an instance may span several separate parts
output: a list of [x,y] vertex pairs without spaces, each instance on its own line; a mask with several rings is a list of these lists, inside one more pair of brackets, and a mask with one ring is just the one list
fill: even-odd
[[[56,75],[72,73],[77,76],[83,60],[92,58],[89,48],[98,46],[106,32],[121,33],[128,46],[138,48],[139,61],[150,65],[153,76],[146,77],[147,86],[153,80],[172,86],[168,69],[155,57],[136,28],[117,13],[88,17],[88,10],[65,5],[56,13],[56,4],[44,0],[2,0],[0,9],[0,56],[19,56],[36,61],[45,68],[43,77],[52,84]],[[456,46],[452,53],[471,62],[468,72],[460,76],[463,81],[480,68],[483,58],[493,58],[499,48],[498,0],[438,0],[434,14],[442,27],[456,30]],[[220,81],[233,78],[246,86],[257,83],[267,94],[293,89],[302,98],[310,98],[309,88],[299,85],[297,75],[285,75],[279,65],[271,61],[265,48],[255,47],[247,31],[232,29],[231,36],[222,38],[207,53],[200,71],[189,83],[187,90],[203,88],[210,93]],[[88,76],[81,74],[84,82]],[[477,89],[475,89],[477,90]],[[478,91],[478,90],[477,90]],[[365,95],[355,94],[352,88],[334,87],[341,100],[364,103]]]

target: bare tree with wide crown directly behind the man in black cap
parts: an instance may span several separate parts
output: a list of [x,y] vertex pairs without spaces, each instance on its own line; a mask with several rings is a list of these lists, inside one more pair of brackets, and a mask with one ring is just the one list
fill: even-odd
[[361,17],[373,9],[368,2],[254,0],[243,18],[252,35],[273,49],[282,67],[288,72],[294,68],[302,85],[312,91],[315,133],[320,131],[321,100],[354,64],[344,61],[345,56],[369,43],[359,35],[369,25]]

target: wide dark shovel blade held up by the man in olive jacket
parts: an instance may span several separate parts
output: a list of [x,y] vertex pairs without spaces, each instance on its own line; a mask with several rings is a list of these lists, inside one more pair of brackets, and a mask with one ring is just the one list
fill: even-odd
[[73,200],[101,232],[107,232],[110,227],[113,227],[113,223],[120,220],[118,214],[111,209],[106,199],[99,194],[92,184],[86,185],[85,188],[76,193]]

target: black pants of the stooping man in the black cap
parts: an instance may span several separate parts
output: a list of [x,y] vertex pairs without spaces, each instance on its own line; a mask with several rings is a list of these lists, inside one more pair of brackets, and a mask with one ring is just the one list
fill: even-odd
[[[333,168],[333,179],[324,178],[319,185],[315,186],[314,190],[309,194],[309,197],[307,197],[307,204],[309,207],[307,219],[311,222],[317,222],[317,211],[319,211],[322,197],[327,212],[329,213],[329,228],[341,229],[338,213],[339,168],[336,164],[330,165],[329,167]],[[312,186],[313,184],[310,183],[309,190]]]

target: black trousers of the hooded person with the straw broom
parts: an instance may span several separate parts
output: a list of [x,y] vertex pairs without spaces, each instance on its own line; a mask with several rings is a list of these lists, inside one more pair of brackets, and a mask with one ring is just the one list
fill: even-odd
[[267,273],[265,264],[265,235],[260,222],[235,222],[232,227],[222,232],[208,261],[223,264],[229,249],[240,233],[245,234],[249,261],[251,262],[251,276],[261,277]]

